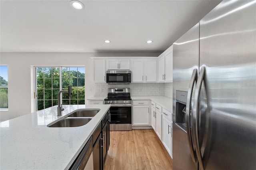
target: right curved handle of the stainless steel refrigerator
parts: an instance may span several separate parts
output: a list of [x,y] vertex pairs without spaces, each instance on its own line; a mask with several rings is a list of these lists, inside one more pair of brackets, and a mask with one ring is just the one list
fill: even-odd
[[192,112],[192,131],[194,133],[194,141],[196,142],[195,144],[195,149],[196,149],[196,155],[198,158],[199,162],[199,167],[200,170],[204,170],[204,165],[202,161],[202,154],[199,146],[199,96],[200,96],[200,91],[202,88],[202,83],[204,80],[205,76],[205,67],[201,67],[199,76],[198,76],[198,81],[196,84],[196,91],[195,91],[195,97],[194,97],[194,107],[193,107],[193,112]]

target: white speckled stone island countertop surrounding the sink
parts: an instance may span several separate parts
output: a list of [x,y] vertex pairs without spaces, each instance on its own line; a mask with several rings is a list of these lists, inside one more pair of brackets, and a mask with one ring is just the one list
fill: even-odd
[[[110,105],[63,105],[0,123],[0,169],[63,170],[70,168]],[[100,109],[81,127],[47,127],[76,109]]]

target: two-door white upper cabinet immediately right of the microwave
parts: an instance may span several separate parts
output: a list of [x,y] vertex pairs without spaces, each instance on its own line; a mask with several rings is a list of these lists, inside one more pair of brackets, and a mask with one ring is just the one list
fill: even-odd
[[133,59],[132,82],[156,82],[156,59]]

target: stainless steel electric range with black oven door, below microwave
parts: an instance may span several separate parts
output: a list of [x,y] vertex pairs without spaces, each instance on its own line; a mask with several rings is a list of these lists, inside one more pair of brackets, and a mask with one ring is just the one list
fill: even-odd
[[130,88],[108,89],[104,104],[110,107],[110,131],[132,130],[132,99]]

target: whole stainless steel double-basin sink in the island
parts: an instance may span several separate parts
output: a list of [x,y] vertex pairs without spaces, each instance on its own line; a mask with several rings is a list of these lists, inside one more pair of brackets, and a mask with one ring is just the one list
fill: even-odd
[[99,111],[100,109],[78,109],[47,127],[80,127],[90,122]]

